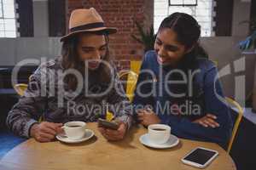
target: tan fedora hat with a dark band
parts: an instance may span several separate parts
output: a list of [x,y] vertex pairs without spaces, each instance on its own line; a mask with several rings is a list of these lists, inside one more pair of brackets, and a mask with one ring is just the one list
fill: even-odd
[[61,42],[79,32],[105,31],[107,34],[117,32],[116,28],[104,26],[104,21],[95,8],[79,8],[72,11],[69,19],[68,33],[61,37]]

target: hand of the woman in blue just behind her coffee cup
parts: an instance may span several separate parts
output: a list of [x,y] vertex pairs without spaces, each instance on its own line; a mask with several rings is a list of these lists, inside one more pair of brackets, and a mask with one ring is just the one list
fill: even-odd
[[151,124],[160,123],[160,118],[154,114],[151,110],[138,110],[137,118],[143,126],[148,127]]

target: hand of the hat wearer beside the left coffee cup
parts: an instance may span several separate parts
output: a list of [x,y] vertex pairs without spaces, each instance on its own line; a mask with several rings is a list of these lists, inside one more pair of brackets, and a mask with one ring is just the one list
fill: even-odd
[[62,123],[41,122],[33,124],[30,129],[30,135],[38,142],[50,142],[55,139],[57,133],[61,133]]

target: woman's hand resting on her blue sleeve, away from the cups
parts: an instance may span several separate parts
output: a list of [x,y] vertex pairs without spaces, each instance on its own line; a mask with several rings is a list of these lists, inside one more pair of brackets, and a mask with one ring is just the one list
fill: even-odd
[[219,127],[218,122],[216,122],[217,116],[212,114],[207,114],[206,116],[201,117],[200,119],[195,120],[195,123],[201,124],[203,127]]

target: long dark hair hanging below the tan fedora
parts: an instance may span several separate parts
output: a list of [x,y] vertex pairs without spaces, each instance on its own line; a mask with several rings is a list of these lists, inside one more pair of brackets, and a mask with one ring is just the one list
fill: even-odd
[[[90,32],[96,35],[103,35],[108,43],[108,35],[104,31],[96,31]],[[79,42],[79,35],[77,34],[69,39],[67,39],[62,44],[61,48],[61,66],[64,71],[67,69],[76,69],[83,76],[85,74],[84,61],[79,59],[79,54],[77,52],[77,46]],[[102,60],[107,61],[110,65],[111,63],[110,55],[109,55],[109,47],[107,46],[107,52]],[[96,71],[90,71],[90,74],[96,75],[96,81],[100,83],[109,83],[111,81],[111,71],[107,65],[100,64],[99,68]],[[90,75],[92,76],[92,75]],[[67,75],[64,78],[64,82],[67,82],[68,89],[74,90],[77,87],[76,77],[73,75]]]

